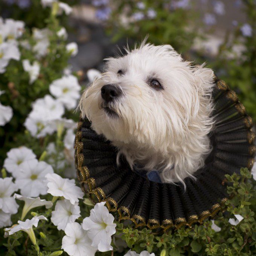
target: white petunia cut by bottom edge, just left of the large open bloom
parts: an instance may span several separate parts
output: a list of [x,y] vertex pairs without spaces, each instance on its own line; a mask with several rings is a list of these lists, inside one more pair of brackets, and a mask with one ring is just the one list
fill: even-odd
[[68,223],[62,238],[61,249],[70,256],[93,256],[97,249],[91,246],[91,241],[81,225],[77,222]]

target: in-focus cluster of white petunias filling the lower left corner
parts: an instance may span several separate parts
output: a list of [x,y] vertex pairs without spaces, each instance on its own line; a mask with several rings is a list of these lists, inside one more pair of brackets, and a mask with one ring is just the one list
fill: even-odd
[[[52,166],[38,161],[32,150],[25,146],[11,149],[7,156],[4,167],[15,181],[11,177],[0,179],[0,227],[12,224],[11,215],[18,211],[15,199],[24,201],[21,220],[17,225],[5,229],[9,235],[22,230],[36,244],[33,226],[37,227],[40,220],[48,221],[47,218],[40,215],[25,221],[23,219],[36,207],[53,207],[55,200],[51,202],[38,197],[48,193],[53,199],[59,199],[50,220],[66,234],[62,239],[64,251],[70,256],[92,256],[97,250],[113,250],[110,244],[111,236],[116,233],[116,224],[113,223],[114,216],[104,206],[105,202],[96,204],[90,216],[79,224],[76,222],[81,216],[78,203],[84,194],[75,185],[75,180],[55,174]],[[14,194],[16,191],[20,191],[20,194]]]

